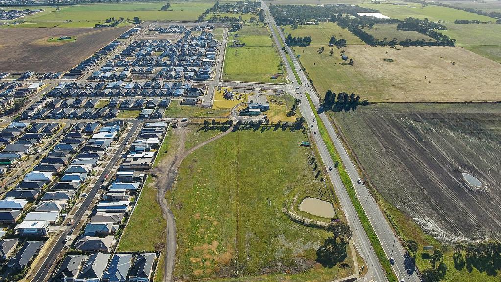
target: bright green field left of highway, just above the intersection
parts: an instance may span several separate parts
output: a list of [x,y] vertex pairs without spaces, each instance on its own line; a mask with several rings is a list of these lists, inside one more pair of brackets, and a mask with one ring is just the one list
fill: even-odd
[[[244,43],[243,47],[229,47],[232,40]],[[266,27],[244,27],[228,35],[224,57],[223,80],[265,83],[284,83],[285,76],[272,79],[274,74],[285,72]]]

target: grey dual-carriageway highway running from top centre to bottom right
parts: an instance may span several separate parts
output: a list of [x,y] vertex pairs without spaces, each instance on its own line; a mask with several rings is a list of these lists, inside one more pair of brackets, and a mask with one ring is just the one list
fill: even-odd
[[[285,41],[285,35],[281,32],[279,28],[277,28],[279,35],[276,34],[276,31],[273,28],[277,27],[276,23],[270,13],[270,10],[268,9],[268,6],[263,1],[262,1],[262,7],[265,9],[267,22],[273,34],[275,44],[280,47],[281,43],[279,42],[279,40]],[[304,74],[301,65],[299,64],[299,61],[297,60],[294,50],[286,45],[286,50],[289,53],[294,66],[290,66],[287,57],[285,56],[285,52],[281,49],[279,50],[282,60],[288,71],[288,78],[290,81],[293,82],[293,85],[297,89],[297,91],[294,92],[290,91],[290,92],[292,92],[291,94],[296,98],[301,99],[301,104],[300,104],[301,113],[305,117],[308,126],[310,126],[311,128],[311,125],[313,125],[313,128],[311,129],[313,131],[318,132],[317,123],[314,122],[315,118],[313,112],[314,109],[311,108],[310,103],[306,98],[306,95],[298,95],[297,92],[310,93],[311,94],[310,97],[317,109],[320,107],[320,100],[318,96],[315,94],[314,89],[310,87],[309,81],[306,75]],[[296,69],[298,77],[300,78],[301,83],[303,85],[299,85],[298,82],[296,81],[293,75],[292,67]],[[317,109],[315,109],[315,111]],[[393,256],[393,258],[395,259],[395,263],[392,265],[393,271],[396,273],[398,279],[404,279],[405,281],[415,281],[415,282],[420,281],[415,271],[409,271],[409,273],[407,272],[408,267],[406,266],[406,263],[408,263],[408,260],[406,260],[404,257],[406,251],[399,242],[399,240],[396,238],[393,229],[387,222],[386,217],[384,216],[382,211],[379,209],[377,202],[370,195],[365,185],[357,183],[356,180],[362,177],[359,175],[357,169],[355,168],[355,165],[348,156],[348,153],[346,152],[343,144],[341,143],[341,140],[338,138],[337,133],[334,130],[334,127],[332,126],[331,122],[329,121],[326,113],[320,113],[319,116],[321,117],[322,122],[327,128],[331,140],[335,140],[334,144],[336,146],[336,149],[341,157],[343,164],[346,167],[346,170],[354,184],[356,194],[359,197],[360,202],[362,203],[362,206],[366,211],[367,216],[369,217],[369,220],[381,242],[381,245],[383,246],[386,255],[388,256],[388,258],[390,256]],[[320,152],[320,155],[322,157],[322,160],[326,166],[326,170],[328,171],[329,177],[332,181],[332,184],[334,185],[336,194],[343,207],[343,211],[345,212],[348,223],[350,224],[353,230],[354,244],[359,250],[363,259],[369,265],[368,273],[365,276],[365,278],[369,280],[372,279],[375,281],[386,281],[387,278],[385,272],[378,261],[378,258],[374,252],[374,249],[372,248],[372,244],[369,241],[367,234],[365,233],[365,230],[362,227],[362,224],[358,218],[355,208],[353,207],[350,197],[348,196],[347,191],[344,189],[344,185],[341,181],[338,171],[336,169],[329,171],[328,169],[328,167],[334,167],[334,163],[332,161],[332,158],[330,157],[329,152],[327,151],[327,147],[325,146],[323,139],[319,136],[319,134],[314,134],[313,136],[315,139],[315,143],[317,144],[318,150]]]

